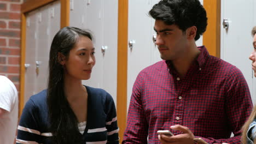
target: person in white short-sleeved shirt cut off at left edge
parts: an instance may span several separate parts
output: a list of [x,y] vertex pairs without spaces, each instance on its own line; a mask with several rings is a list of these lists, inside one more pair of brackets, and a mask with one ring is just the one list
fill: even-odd
[[18,92],[13,82],[0,75],[0,143],[14,143],[18,127]]

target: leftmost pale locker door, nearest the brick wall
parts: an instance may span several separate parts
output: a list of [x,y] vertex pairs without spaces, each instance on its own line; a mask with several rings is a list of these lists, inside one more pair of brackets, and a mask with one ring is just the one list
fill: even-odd
[[[26,22],[26,58],[25,58],[25,94],[24,103],[36,93],[36,15],[37,10],[27,14]],[[22,65],[23,66],[23,65]]]

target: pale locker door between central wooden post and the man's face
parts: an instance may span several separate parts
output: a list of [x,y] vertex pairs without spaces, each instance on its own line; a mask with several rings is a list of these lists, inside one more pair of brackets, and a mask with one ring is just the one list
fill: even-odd
[[[151,0],[129,1],[128,12],[128,63],[127,63],[127,107],[129,107],[132,86],[142,69],[151,64],[152,18],[148,11]],[[139,62],[138,62],[139,61]]]

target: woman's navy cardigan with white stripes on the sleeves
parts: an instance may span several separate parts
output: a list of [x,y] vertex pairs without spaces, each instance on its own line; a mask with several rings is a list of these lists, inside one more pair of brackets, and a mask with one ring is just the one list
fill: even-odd
[[[83,143],[119,143],[117,112],[111,95],[103,89],[85,87],[88,92],[88,116],[82,134]],[[45,89],[27,101],[20,118],[16,143],[52,143],[46,93]]]

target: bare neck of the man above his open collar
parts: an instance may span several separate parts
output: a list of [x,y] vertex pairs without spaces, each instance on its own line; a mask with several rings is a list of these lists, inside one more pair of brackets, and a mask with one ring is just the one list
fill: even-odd
[[187,55],[184,55],[174,61],[172,61],[172,64],[176,71],[178,72],[179,76],[183,78],[185,74],[187,73],[188,69],[190,68],[191,64],[195,61],[197,56],[199,55],[201,51],[199,49],[194,48],[191,51],[187,52]]

